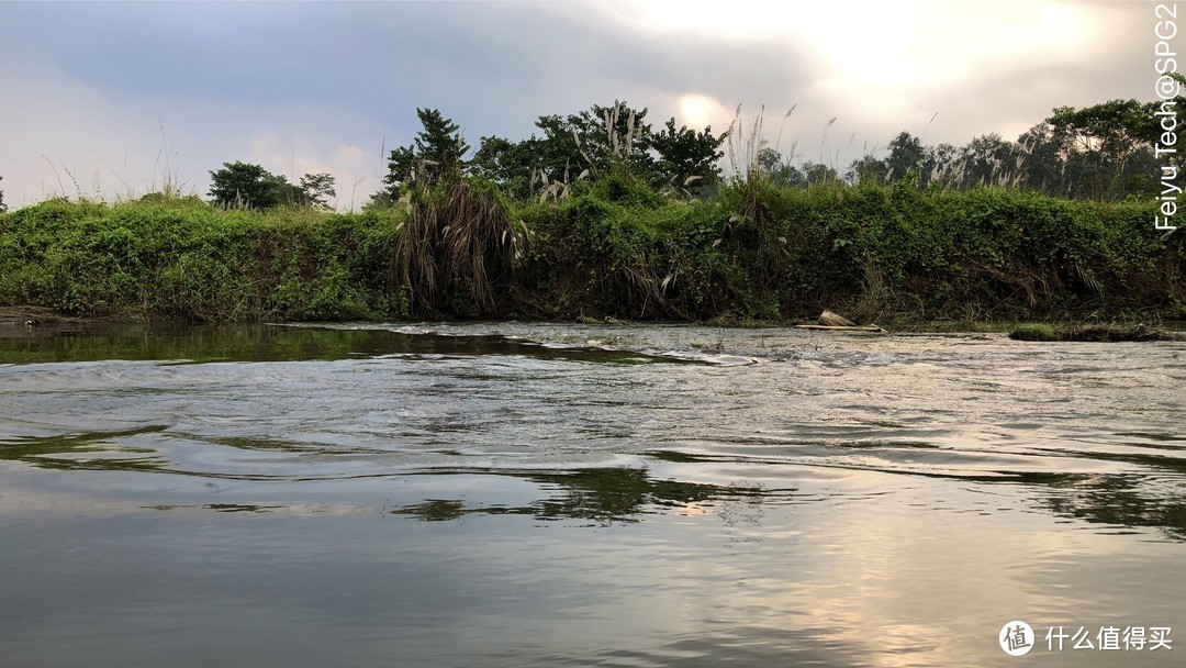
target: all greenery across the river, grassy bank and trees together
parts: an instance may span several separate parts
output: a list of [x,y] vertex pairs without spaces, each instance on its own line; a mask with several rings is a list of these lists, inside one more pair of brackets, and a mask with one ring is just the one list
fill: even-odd
[[326,210],[329,174],[298,185],[227,163],[210,203],[157,193],[0,215],[0,305],[208,320],[830,308],[882,325],[1152,326],[1186,318],[1186,265],[1181,235],[1152,222],[1158,172],[1134,167],[1155,141],[1146,112],[1056,109],[1018,144],[926,147],[900,133],[841,174],[824,141],[820,161],[793,165],[740,110],[720,135],[674,119],[655,132],[645,109],[614,102],[541,116],[542,136],[482,138],[471,155],[455,122],[417,109],[422,132],[390,152],[362,212]]

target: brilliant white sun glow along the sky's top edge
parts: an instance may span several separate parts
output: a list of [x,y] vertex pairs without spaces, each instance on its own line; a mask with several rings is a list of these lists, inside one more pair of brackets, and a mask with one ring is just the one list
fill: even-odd
[[1001,59],[1039,59],[1084,47],[1101,28],[1075,5],[1031,0],[954,4],[850,0],[843,5],[731,0],[607,2],[611,15],[659,34],[785,44],[815,61],[830,87],[945,85]]

